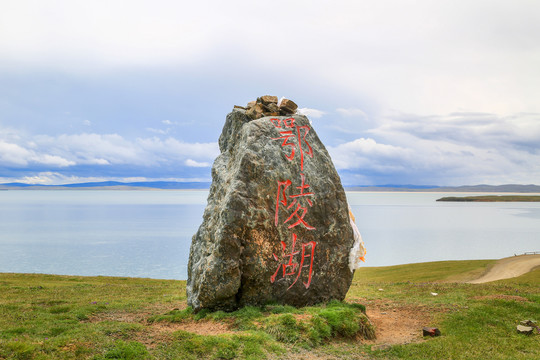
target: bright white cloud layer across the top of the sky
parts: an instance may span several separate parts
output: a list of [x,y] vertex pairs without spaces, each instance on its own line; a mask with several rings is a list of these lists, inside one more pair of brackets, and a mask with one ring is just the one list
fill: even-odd
[[[332,103],[335,94],[351,94],[353,101],[414,113],[540,111],[538,2],[286,6],[287,15],[276,17],[264,3],[234,0],[13,1],[0,13],[2,62],[80,73],[178,69],[210,77],[216,64],[223,73],[235,73],[230,64],[236,64],[246,74],[271,70],[308,90],[311,84],[331,89]],[[268,56],[260,41],[268,26],[261,24],[272,27],[280,53],[294,56]]]

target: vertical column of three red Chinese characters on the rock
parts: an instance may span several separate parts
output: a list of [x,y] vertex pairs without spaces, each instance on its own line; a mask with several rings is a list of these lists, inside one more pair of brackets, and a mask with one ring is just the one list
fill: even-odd
[[[306,181],[304,171],[304,155],[313,158],[313,149],[307,140],[310,127],[307,125],[296,125],[294,118],[288,119],[270,119],[274,127],[279,129],[280,137],[272,140],[282,140],[281,147],[287,147],[289,153],[285,155],[287,160],[292,161],[297,154],[300,154],[300,185],[293,186],[290,179],[277,182],[276,208],[274,223],[276,226],[287,226],[287,229],[296,231],[298,228],[305,230],[315,230],[315,227],[309,224],[307,214],[313,206],[315,194],[310,190],[310,185]],[[280,213],[285,216],[281,216]],[[294,278],[289,290],[298,279],[302,279],[304,287],[307,289],[311,284],[313,274],[313,261],[315,256],[315,241],[302,243],[301,249],[296,249],[297,234],[292,234],[292,245],[287,250],[287,244],[281,242],[281,256],[273,254],[274,260],[279,263],[274,275],[270,281],[274,283],[281,274],[282,278]],[[280,271],[281,270],[281,271]]]

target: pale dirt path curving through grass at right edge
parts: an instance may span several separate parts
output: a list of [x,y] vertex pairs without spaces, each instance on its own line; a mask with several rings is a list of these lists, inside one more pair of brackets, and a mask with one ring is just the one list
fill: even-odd
[[540,266],[540,255],[520,255],[501,259],[487,273],[469,284],[482,284],[490,281],[509,279],[528,273]]

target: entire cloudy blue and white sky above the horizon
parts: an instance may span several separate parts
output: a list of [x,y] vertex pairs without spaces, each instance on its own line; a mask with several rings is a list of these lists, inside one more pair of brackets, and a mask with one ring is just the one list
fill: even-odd
[[266,94],[344,185],[540,184],[540,2],[0,0],[0,183],[211,181]]

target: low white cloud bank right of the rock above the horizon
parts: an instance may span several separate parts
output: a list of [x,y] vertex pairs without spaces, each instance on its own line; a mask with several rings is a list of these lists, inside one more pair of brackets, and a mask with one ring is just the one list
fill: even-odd
[[[463,185],[537,183],[540,114],[395,114],[328,147],[346,182]],[[368,180],[370,179],[370,180]]]

